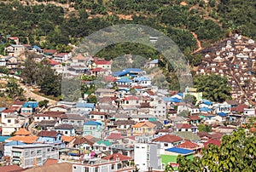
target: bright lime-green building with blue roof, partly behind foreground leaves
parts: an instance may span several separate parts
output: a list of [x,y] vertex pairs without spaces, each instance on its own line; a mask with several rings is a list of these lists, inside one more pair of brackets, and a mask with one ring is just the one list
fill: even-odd
[[183,149],[179,147],[172,147],[165,150],[164,154],[161,154],[161,161],[165,163],[165,165],[170,164],[174,170],[178,169],[177,156],[181,155],[186,159],[193,160],[194,159],[194,151],[189,149]]

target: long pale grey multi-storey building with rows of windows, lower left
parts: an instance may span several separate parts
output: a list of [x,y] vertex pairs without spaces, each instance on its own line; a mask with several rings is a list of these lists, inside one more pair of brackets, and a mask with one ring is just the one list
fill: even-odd
[[46,144],[13,146],[11,163],[18,164],[22,169],[40,166],[49,158],[59,159],[59,151],[55,146]]

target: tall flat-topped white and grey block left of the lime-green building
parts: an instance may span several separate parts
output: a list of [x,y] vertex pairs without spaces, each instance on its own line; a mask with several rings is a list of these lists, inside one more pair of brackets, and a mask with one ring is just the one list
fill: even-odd
[[160,158],[160,144],[137,143],[134,146],[134,162],[139,171],[146,171],[148,168],[163,169]]

